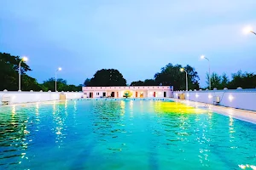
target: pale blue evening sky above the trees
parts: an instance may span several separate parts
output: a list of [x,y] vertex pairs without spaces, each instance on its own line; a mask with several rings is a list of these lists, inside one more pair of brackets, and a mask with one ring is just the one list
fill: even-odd
[[153,78],[171,62],[212,71],[255,72],[255,0],[3,0],[0,51],[29,57],[30,76],[79,84],[102,68],[127,82]]

